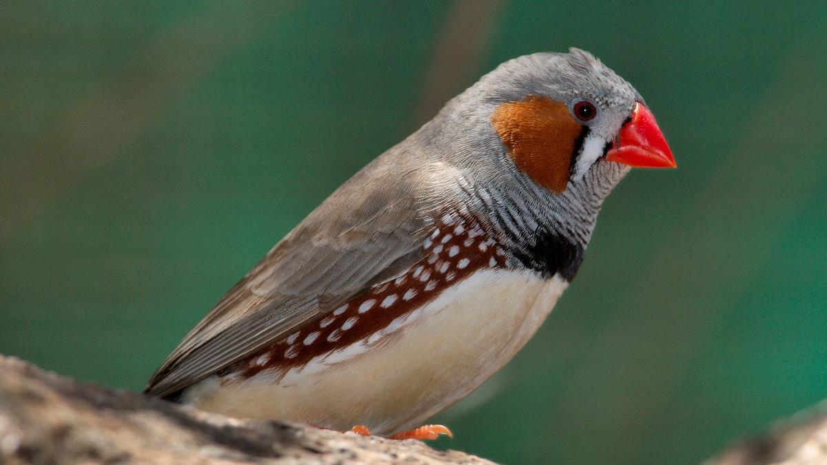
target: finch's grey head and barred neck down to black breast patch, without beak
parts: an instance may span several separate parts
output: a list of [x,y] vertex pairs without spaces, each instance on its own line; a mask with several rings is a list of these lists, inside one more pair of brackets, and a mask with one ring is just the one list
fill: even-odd
[[570,280],[600,205],[630,169],[605,156],[638,102],[584,50],[535,53],[483,76],[411,139],[453,170],[437,196],[487,218],[524,266]]

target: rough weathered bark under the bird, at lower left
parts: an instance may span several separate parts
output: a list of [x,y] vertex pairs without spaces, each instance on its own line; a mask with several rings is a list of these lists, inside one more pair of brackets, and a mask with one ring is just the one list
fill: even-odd
[[0,463],[490,463],[414,440],[232,419],[0,356]]

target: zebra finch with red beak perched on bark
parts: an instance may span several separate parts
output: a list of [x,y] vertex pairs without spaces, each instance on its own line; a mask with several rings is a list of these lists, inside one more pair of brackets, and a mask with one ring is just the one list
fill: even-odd
[[485,74],[336,189],[186,334],[146,394],[234,417],[433,439],[537,332],[606,196],[674,168],[585,50]]

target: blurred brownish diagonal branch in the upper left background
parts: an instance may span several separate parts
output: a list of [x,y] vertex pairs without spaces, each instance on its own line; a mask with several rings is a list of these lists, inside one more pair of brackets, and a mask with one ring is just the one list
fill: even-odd
[[[79,99],[46,137],[0,163],[0,242],[88,171],[112,163],[156,113],[234,51],[256,40],[298,2],[210,2],[156,31],[139,55]],[[113,45],[114,46],[114,45]]]

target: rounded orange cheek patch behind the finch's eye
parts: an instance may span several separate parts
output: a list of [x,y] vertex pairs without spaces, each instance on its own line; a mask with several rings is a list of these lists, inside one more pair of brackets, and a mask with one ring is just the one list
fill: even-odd
[[491,126],[519,170],[556,194],[566,189],[583,127],[565,103],[535,95],[503,103],[491,116]]

